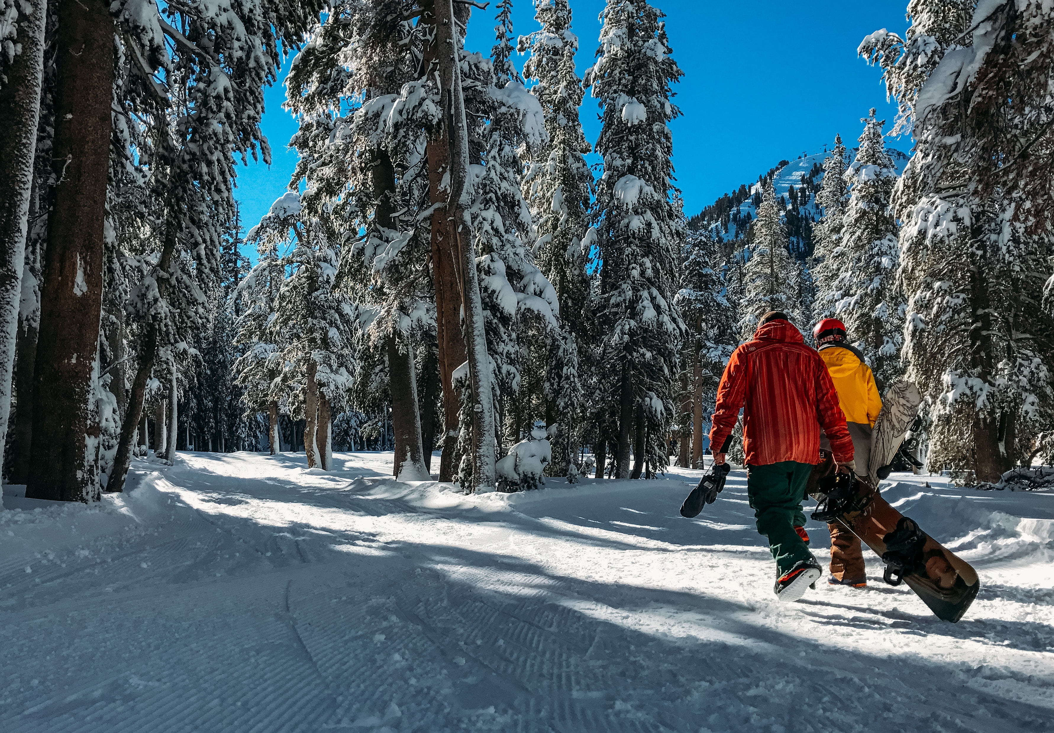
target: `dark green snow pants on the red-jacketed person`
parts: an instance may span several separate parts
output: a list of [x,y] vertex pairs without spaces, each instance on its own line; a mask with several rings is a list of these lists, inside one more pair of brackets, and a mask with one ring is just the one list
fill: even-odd
[[802,560],[816,562],[795,532],[796,526],[805,526],[801,502],[812,472],[812,464],[797,461],[747,466],[746,495],[757,519],[758,534],[768,538],[768,549],[776,560],[776,577],[790,572]]

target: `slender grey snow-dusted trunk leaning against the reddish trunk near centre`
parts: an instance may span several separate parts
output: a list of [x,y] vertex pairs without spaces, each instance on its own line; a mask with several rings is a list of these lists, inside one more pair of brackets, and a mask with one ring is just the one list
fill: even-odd
[[494,403],[490,386],[490,365],[487,337],[484,332],[483,301],[475,269],[466,208],[471,202],[468,180],[468,126],[465,120],[465,98],[462,93],[461,64],[457,59],[458,38],[455,31],[453,0],[435,3],[435,35],[438,44],[440,79],[446,100],[447,134],[450,139],[450,198],[447,217],[458,252],[462,273],[462,304],[465,319],[465,345],[468,351],[468,377],[472,385],[472,489],[492,489],[496,483],[494,468]]

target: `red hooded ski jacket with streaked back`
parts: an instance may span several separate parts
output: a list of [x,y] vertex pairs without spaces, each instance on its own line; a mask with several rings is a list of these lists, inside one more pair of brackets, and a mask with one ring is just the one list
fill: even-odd
[[820,428],[835,460],[853,461],[853,439],[827,366],[787,321],[761,326],[753,341],[733,351],[718,386],[711,450],[725,452],[741,407],[747,465],[818,463]]

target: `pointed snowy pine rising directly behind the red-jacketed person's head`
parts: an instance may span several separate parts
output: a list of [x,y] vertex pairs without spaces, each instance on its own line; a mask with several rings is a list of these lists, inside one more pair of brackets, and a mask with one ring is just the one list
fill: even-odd
[[743,266],[743,294],[739,310],[740,339],[749,341],[765,312],[783,311],[799,328],[802,321],[799,301],[801,272],[787,251],[787,235],[780,221],[773,179],[761,185],[762,198],[758,217],[750,227],[748,259]]

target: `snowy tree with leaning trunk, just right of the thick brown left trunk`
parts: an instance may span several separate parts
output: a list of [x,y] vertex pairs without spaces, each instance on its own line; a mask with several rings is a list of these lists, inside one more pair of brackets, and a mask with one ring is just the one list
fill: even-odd
[[[128,44],[129,86],[136,92],[128,113],[153,120],[148,162],[162,216],[153,237],[156,251],[142,252],[134,268],[139,285],[133,312],[143,324],[139,364],[108,489],[123,486],[154,363],[171,374],[188,328],[197,330],[206,321],[208,298],[199,287],[218,281],[221,230],[234,215],[234,156],[262,153],[270,160],[259,129],[264,86],[275,79],[281,49],[302,40],[319,9],[314,0],[162,7],[123,0],[109,7]],[[109,94],[106,109],[109,115]]]

